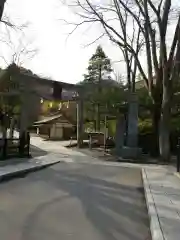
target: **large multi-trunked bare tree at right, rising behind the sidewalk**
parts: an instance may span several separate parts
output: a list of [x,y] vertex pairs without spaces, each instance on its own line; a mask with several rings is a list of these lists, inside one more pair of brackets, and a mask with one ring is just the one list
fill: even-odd
[[[112,42],[123,49],[125,54],[132,54],[134,66],[141,73],[154,103],[153,123],[155,133],[159,131],[160,154],[164,160],[168,160],[172,85],[180,71],[179,12],[173,8],[171,0],[107,0],[99,4],[96,1],[75,0],[73,6],[81,19],[76,27],[83,23],[100,23]],[[121,23],[122,9],[128,16],[125,25],[131,28],[125,34]],[[139,29],[139,39],[143,39],[147,72],[137,54],[137,48],[131,44],[133,34],[130,34],[130,31],[132,32],[133,22],[135,29]],[[172,26],[170,23],[175,26],[171,29],[171,40],[168,39],[168,31]]]

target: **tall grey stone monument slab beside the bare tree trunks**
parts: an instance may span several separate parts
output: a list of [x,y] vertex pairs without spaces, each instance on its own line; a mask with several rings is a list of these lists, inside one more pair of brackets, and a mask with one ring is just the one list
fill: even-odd
[[127,146],[138,147],[138,98],[135,93],[129,98]]

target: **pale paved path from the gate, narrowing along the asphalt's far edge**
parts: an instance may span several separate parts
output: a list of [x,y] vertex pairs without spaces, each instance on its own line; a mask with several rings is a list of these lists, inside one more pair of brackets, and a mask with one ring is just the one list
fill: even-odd
[[[65,162],[78,162],[78,163],[91,163],[96,165],[106,165],[106,166],[122,166],[129,168],[147,168],[147,169],[166,169],[165,166],[149,165],[149,164],[133,164],[125,162],[117,162],[113,157],[113,160],[105,155],[103,152],[90,151],[89,149],[76,149],[76,148],[66,148],[64,147],[64,141],[45,141],[42,138],[36,136],[31,137],[31,144],[34,145],[33,153],[36,155],[44,155],[47,153],[59,154],[59,157],[62,161]],[[36,151],[37,149],[37,151]]]

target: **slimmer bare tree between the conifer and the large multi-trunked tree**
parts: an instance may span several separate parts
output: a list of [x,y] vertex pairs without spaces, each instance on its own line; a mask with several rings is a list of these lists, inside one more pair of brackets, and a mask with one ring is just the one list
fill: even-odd
[[[128,3],[129,0],[125,2]],[[127,83],[128,88],[131,91],[135,90],[135,78],[137,72],[137,64],[134,54],[128,50],[128,48],[124,47],[124,42],[127,42],[132,49],[134,49],[134,53],[138,56],[140,50],[143,46],[143,41],[140,38],[140,28],[136,26],[135,21],[132,20],[129,12],[125,8],[120,8],[120,5],[117,0],[113,1],[105,1],[105,3],[101,6],[97,6],[89,1],[62,1],[64,4],[67,4],[69,7],[73,8],[73,11],[76,15],[79,16],[80,20],[78,22],[69,21],[66,19],[61,19],[66,24],[72,26],[72,30],[68,34],[69,38],[79,27],[84,24],[100,24],[103,26],[103,32],[99,34],[99,36],[95,37],[93,41],[88,43],[86,46],[96,43],[103,37],[108,37],[113,43],[117,44],[120,47],[120,50],[123,53],[124,61],[126,63],[126,72],[127,72]],[[140,13],[139,13],[140,17]],[[130,19],[131,18],[131,19]],[[138,16],[137,16],[138,18]],[[128,26],[129,22],[131,23],[131,30],[129,31]],[[104,24],[107,23],[107,24]],[[116,33],[119,32],[118,37],[122,42],[119,42],[114,35],[114,29]],[[130,32],[133,32],[130,34]]]

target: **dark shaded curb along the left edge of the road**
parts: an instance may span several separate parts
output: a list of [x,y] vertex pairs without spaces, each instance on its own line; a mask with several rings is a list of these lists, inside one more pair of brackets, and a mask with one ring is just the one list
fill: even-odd
[[61,161],[57,161],[57,162],[53,162],[53,163],[47,163],[47,164],[44,164],[44,165],[32,166],[32,167],[17,170],[17,171],[14,171],[14,172],[5,173],[5,174],[0,176],[0,183],[4,182],[4,181],[11,180],[11,179],[16,178],[16,177],[21,177],[21,176],[24,177],[24,175],[26,175],[28,173],[42,170],[44,168],[50,167],[50,166],[55,165],[55,164],[60,163],[60,162]]

